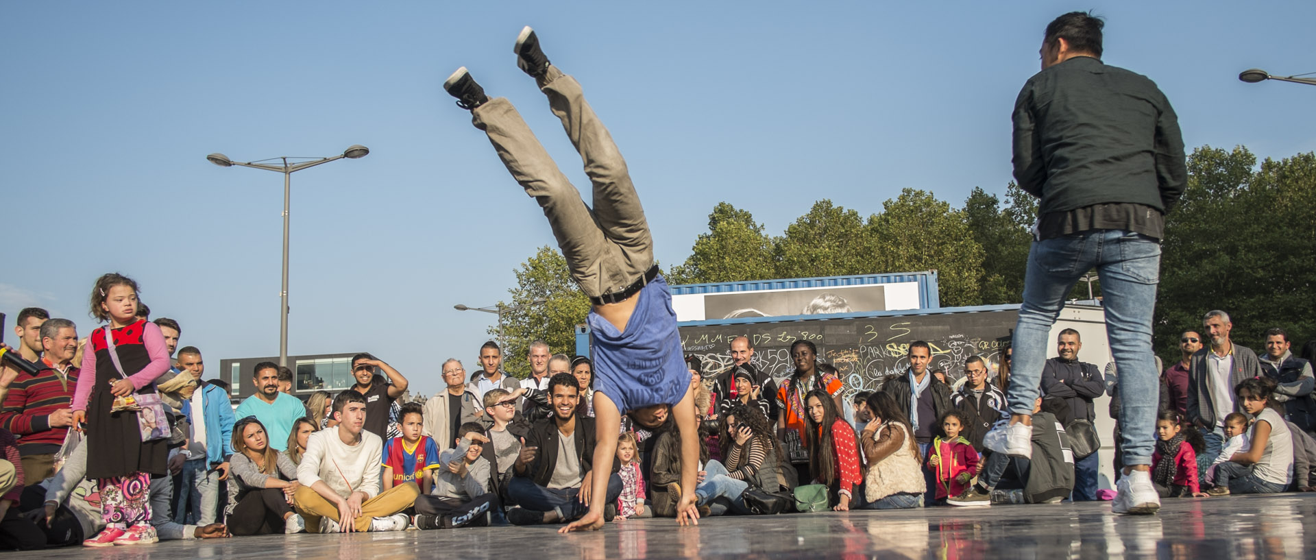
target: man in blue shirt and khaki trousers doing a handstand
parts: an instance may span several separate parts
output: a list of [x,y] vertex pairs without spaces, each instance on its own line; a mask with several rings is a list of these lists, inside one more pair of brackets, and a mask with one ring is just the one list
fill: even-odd
[[[653,235],[630,174],[608,129],[584,100],[580,84],[549,63],[534,30],[526,26],[513,50],[517,66],[534,78],[584,160],[594,187],[592,204],[554,164],[516,108],[490,99],[466,67],[443,89],[471,112],[504,167],[536,198],[549,220],[571,279],[590,298],[587,322],[594,348],[594,411],[597,446],[592,465],[612,472],[621,415],[644,429],[674,417],[680,430],[683,494],[676,521],[697,523],[695,477],[699,435],[695,425],[691,375],[682,362],[680,334],[671,292],[654,262]],[[604,525],[607,476],[596,476],[588,492],[590,511],[561,531],[597,530]]]

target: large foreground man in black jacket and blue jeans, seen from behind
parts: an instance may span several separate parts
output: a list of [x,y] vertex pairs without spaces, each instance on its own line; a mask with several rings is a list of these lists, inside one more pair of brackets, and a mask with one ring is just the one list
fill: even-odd
[[1041,198],[1015,329],[1008,455],[1032,455],[1032,414],[1046,339],[1065,296],[1096,268],[1124,406],[1120,478],[1112,510],[1152,514],[1157,413],[1152,313],[1165,214],[1183,195],[1187,166],[1178,117],[1146,76],[1101,62],[1101,20],[1070,12],[1046,26],[1042,71],[1015,101],[1013,163],[1020,188]]

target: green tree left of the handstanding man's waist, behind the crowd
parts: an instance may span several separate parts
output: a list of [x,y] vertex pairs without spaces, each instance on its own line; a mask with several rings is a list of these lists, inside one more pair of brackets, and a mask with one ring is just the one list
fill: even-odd
[[[575,326],[590,314],[590,300],[580,292],[567,269],[567,260],[549,246],[516,271],[516,288],[508,291],[512,301],[500,302],[503,312],[503,365],[508,373],[525,379],[530,365],[525,356],[530,342],[544,339],[554,352],[575,354]],[[544,304],[533,304],[545,300]],[[497,335],[497,326],[488,329]]]

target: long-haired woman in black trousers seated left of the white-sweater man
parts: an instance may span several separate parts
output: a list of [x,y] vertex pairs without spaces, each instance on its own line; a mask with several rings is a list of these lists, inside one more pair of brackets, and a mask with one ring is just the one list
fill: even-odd
[[233,457],[229,459],[229,505],[225,518],[237,536],[293,534],[305,528],[292,511],[297,492],[297,467],[270,447],[265,425],[246,417],[233,425]]

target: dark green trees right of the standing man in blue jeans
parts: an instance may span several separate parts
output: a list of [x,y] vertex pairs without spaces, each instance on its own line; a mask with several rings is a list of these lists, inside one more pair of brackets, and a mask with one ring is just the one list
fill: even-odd
[[[1232,338],[1261,351],[1283,327],[1302,344],[1316,335],[1316,156],[1257,158],[1209,146],[1188,158],[1188,187],[1166,217],[1155,337],[1178,359],[1179,333],[1205,312],[1233,321]],[[1204,333],[1203,333],[1204,334]]]

